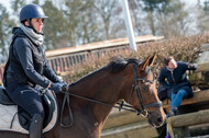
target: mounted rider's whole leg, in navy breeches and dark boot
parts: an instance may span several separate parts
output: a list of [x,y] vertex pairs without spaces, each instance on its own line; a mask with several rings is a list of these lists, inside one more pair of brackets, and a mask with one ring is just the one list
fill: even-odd
[[30,138],[41,138],[40,134],[42,134],[44,107],[40,92],[28,85],[19,85],[15,88],[15,90],[9,91],[8,94],[14,101],[14,103],[16,103],[31,115],[32,120],[29,127]]

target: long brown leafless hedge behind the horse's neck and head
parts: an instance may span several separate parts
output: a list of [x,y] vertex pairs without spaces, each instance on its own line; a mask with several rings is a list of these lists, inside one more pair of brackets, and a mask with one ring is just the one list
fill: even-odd
[[161,68],[163,67],[164,57],[173,56],[176,60],[196,62],[197,58],[201,54],[201,45],[207,43],[209,43],[209,34],[201,34],[189,37],[138,44],[138,51],[127,48],[114,53],[106,53],[100,57],[92,55],[85,61],[85,64],[72,67],[68,72],[68,78],[70,78],[72,81],[76,81],[89,72],[101,68],[113,57],[121,56],[123,58],[136,58],[142,61],[147,56],[152,56],[154,53],[157,53],[157,57],[152,70],[157,77]]

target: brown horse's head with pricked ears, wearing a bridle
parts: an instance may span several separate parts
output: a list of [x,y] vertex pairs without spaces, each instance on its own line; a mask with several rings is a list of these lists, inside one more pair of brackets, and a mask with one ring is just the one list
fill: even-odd
[[152,126],[162,126],[165,122],[165,113],[157,96],[155,77],[151,71],[151,66],[156,57],[147,57],[142,64],[129,64],[132,88],[127,94],[125,101],[131,104],[139,114],[147,117]]

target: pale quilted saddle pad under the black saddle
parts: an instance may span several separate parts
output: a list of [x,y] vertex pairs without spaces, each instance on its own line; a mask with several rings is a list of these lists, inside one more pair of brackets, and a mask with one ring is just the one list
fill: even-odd
[[[56,124],[56,119],[57,119],[56,100],[55,100],[52,92],[48,92],[48,95],[55,102],[55,111],[53,113],[52,120],[44,128],[43,133],[51,130],[54,127],[54,125]],[[18,133],[22,133],[22,134],[29,134],[28,130],[25,130],[24,128],[22,128],[20,126],[16,112],[18,112],[16,105],[2,105],[2,104],[0,104],[0,130],[11,130],[11,131],[18,131]],[[10,128],[12,119],[13,119],[13,123],[12,123],[12,127]]]

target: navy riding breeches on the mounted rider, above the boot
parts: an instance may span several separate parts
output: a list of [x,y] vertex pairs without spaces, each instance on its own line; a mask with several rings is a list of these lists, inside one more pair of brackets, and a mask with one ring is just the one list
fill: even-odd
[[15,82],[9,82],[6,90],[13,102],[26,111],[31,117],[35,114],[40,114],[44,118],[42,99],[36,89]]

